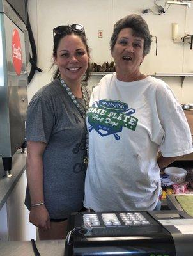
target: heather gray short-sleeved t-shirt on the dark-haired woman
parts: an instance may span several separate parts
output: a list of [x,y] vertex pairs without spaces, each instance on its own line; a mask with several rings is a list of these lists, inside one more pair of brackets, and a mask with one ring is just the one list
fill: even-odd
[[[89,89],[83,86],[89,102]],[[77,99],[82,108],[84,100]],[[50,218],[82,209],[86,125],[58,79],[41,88],[27,108],[26,141],[47,143],[43,153],[43,193]],[[25,204],[31,208],[29,189]]]

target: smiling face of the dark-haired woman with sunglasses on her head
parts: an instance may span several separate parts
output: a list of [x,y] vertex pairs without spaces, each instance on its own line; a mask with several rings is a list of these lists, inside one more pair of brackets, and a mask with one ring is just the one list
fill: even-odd
[[61,77],[68,83],[81,83],[81,78],[88,68],[88,52],[77,35],[61,38],[54,60]]

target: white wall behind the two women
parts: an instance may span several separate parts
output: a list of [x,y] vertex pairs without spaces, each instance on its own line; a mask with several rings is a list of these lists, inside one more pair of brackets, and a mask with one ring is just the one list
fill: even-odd
[[[157,4],[165,9],[166,1],[158,0]],[[193,34],[193,3],[191,8],[171,5],[163,15],[148,13],[143,15],[141,10],[151,8],[157,12],[154,0],[29,0],[29,19],[35,36],[38,52],[38,67],[43,69],[29,84],[28,98],[43,85],[51,80],[52,71],[52,28],[61,24],[84,24],[88,44],[91,47],[93,62],[102,64],[111,61],[109,40],[112,34],[113,24],[130,13],[143,16],[148,22],[151,35],[157,36],[158,55],[155,56],[155,38],[151,52],[146,56],[141,65],[141,71],[145,74],[160,72],[179,73],[193,72],[193,50],[190,44],[174,43],[171,39],[171,24],[178,23],[178,36],[185,36],[186,32]],[[104,37],[98,38],[97,31],[103,30]],[[100,77],[93,77],[89,82],[92,86]],[[181,103],[193,102],[193,77],[185,78],[181,87],[181,77],[162,77]]]

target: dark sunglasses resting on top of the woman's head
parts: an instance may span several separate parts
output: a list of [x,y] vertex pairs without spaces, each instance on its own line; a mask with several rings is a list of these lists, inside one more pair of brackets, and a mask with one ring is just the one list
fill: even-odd
[[58,26],[58,27],[54,28],[53,29],[53,37],[56,35],[61,35],[63,33],[66,33],[69,31],[69,29],[85,36],[84,26],[79,25],[79,24],[72,24],[72,25]]

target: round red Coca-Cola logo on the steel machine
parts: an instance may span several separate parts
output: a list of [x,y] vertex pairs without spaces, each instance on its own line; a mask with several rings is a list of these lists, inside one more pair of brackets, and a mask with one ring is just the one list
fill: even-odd
[[20,75],[22,70],[22,49],[19,32],[16,28],[13,30],[12,36],[12,60],[15,72],[17,73],[17,75]]

